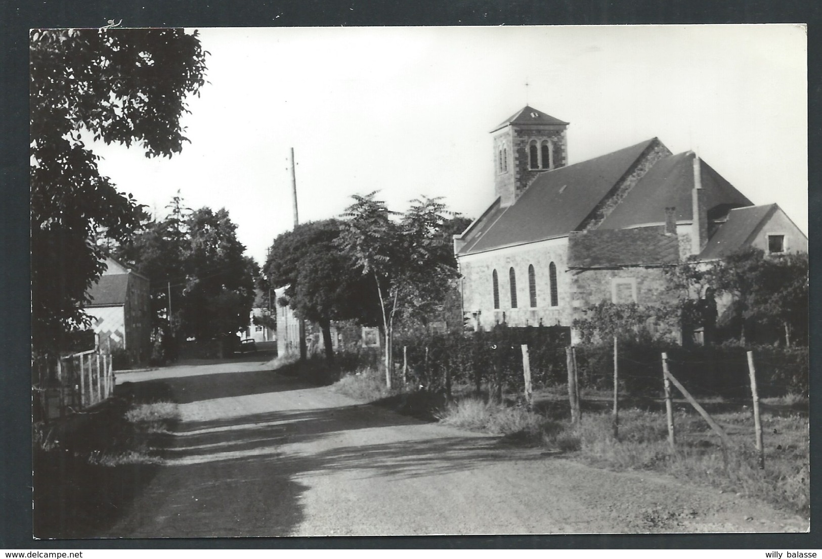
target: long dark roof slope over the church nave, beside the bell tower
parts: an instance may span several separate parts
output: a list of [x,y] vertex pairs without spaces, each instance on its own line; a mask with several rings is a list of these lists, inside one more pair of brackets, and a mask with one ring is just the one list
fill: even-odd
[[496,201],[496,209],[489,208],[493,211],[487,227],[473,235],[459,254],[566,236],[580,226],[653,142],[658,140],[652,138],[598,158],[540,173],[515,204],[499,208]]

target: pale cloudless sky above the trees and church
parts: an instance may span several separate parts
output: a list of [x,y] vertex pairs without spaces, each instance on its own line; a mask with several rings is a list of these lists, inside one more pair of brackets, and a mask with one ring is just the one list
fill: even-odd
[[[526,104],[568,126],[569,163],[658,137],[694,150],[754,204],[807,234],[801,25],[209,28],[207,83],[173,158],[95,144],[100,171],[163,218],[226,208],[262,263],[300,222],[379,190],[404,211],[493,201],[490,131]],[[526,85],[527,84],[527,85]]]

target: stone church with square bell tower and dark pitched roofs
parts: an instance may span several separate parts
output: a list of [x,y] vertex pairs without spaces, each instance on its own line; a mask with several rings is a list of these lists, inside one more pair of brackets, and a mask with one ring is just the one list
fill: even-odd
[[808,250],[777,204],[752,204],[658,138],[569,165],[568,125],[526,106],[492,130],[492,202],[454,236],[473,329],[570,326],[603,300],[661,302],[663,269],[691,256]]

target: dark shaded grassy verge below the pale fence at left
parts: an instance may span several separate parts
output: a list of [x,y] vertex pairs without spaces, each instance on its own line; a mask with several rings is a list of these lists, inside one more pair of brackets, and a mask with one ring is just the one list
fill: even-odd
[[115,397],[52,428],[35,426],[35,536],[95,537],[154,477],[163,462],[161,438],[178,421],[177,405],[134,396]]

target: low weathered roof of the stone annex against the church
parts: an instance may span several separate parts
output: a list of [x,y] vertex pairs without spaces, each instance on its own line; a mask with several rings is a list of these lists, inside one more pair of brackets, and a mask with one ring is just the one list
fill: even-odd
[[568,237],[568,268],[619,268],[679,261],[679,239],[664,227],[593,229]]

